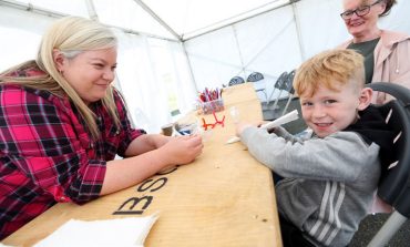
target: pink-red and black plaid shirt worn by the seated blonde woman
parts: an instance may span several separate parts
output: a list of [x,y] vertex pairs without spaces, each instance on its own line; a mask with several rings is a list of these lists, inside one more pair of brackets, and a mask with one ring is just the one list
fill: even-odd
[[82,204],[100,195],[105,162],[124,156],[144,133],[131,127],[117,92],[114,99],[121,128],[101,102],[93,103],[101,137],[92,141],[68,99],[0,84],[0,239],[57,202]]

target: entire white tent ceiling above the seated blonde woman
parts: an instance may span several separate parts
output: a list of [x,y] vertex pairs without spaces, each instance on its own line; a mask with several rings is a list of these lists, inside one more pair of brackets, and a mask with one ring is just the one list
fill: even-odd
[[81,16],[131,32],[187,40],[279,8],[291,0],[0,0],[29,11]]

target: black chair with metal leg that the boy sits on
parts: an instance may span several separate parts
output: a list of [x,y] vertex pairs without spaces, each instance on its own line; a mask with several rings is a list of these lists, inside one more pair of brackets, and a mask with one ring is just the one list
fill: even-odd
[[381,200],[392,206],[393,213],[368,245],[386,246],[410,216],[410,90],[382,82],[368,86],[396,99],[380,106],[398,136],[392,153],[380,152],[382,174],[377,192]]

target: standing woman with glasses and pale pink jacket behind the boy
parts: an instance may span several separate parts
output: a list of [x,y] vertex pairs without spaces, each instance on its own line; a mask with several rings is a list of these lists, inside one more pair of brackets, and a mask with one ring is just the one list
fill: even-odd
[[[340,47],[357,50],[365,56],[366,82],[392,82],[410,88],[410,35],[377,25],[396,0],[342,0],[342,3],[340,17],[352,39]],[[378,93],[377,103],[386,100],[386,94]]]

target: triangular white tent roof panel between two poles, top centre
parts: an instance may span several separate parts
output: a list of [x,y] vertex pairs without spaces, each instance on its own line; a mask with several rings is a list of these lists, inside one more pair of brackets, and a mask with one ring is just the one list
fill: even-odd
[[182,39],[189,39],[288,3],[288,0],[145,0]]

